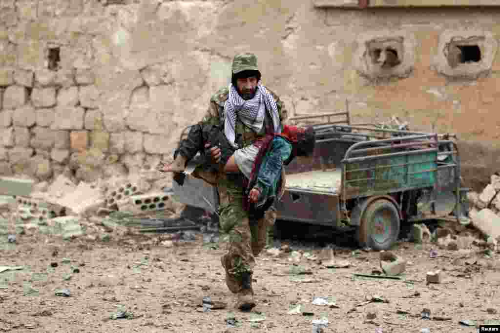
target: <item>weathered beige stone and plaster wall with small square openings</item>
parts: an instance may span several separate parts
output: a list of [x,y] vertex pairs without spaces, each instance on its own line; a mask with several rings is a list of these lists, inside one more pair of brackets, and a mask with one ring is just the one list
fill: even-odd
[[91,180],[154,164],[228,82],[233,55],[252,51],[291,115],[347,99],[354,122],[454,132],[468,185],[487,184],[500,7],[326,2],[1,1],[0,173]]

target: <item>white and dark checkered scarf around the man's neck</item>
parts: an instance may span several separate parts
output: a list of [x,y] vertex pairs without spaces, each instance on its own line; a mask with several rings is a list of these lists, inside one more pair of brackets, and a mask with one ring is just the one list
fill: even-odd
[[[224,104],[224,134],[227,140],[234,146],[236,117],[239,116],[245,123],[254,122],[256,119],[263,119],[265,110],[270,112],[274,133],[279,133],[279,115],[276,101],[270,92],[262,85],[257,85],[257,91],[252,99],[244,100],[238,94],[236,88],[229,84],[229,96]],[[263,123],[263,122],[262,122]]]

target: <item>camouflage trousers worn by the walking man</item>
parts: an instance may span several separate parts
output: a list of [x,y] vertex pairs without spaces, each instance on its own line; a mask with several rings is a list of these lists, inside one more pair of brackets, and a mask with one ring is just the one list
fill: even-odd
[[[269,209],[264,217],[250,221],[243,209],[243,187],[239,181],[222,176],[218,182],[219,223],[223,239],[227,241],[221,258],[229,289],[237,293],[242,273],[253,273],[255,256],[268,244],[268,230],[272,229],[276,212]],[[242,175],[241,175],[242,177]],[[231,286],[232,284],[232,286]]]

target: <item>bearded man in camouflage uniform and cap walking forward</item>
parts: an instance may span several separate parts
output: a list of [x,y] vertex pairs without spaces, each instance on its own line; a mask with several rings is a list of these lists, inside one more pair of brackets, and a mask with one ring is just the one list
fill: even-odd
[[[252,145],[256,139],[265,134],[279,133],[286,120],[287,112],[279,97],[260,84],[260,71],[257,67],[256,56],[251,53],[236,55],[231,71],[231,84],[221,88],[210,98],[210,104],[202,122],[223,129],[228,138],[233,138],[233,143],[238,148]],[[228,110],[231,102],[231,89],[237,91],[239,96],[236,97],[242,98],[248,104],[256,94],[265,93],[270,101],[259,106],[263,107],[265,112],[258,113],[252,121],[249,121],[248,117],[243,117],[245,112],[245,103],[243,103],[242,107],[233,108],[232,110],[235,111],[231,114]],[[226,119],[226,115],[230,117],[234,115],[232,124],[228,125],[229,119]],[[206,148],[209,149],[213,160],[218,162],[221,155],[220,149],[209,145]],[[240,150],[244,151],[244,149]],[[263,218],[256,221],[251,219],[243,208],[245,176],[239,172],[238,166],[241,168],[241,165],[238,163],[238,160],[234,160],[234,156],[231,156],[225,172],[207,174],[201,170],[195,170],[193,175],[217,186],[220,230],[228,236],[226,253],[220,260],[225,270],[226,285],[231,292],[237,294],[237,307],[240,310],[250,310],[255,306],[252,289],[254,257],[266,245],[267,230],[272,228],[276,212],[271,208],[264,213]],[[283,183],[284,173],[282,175],[281,182]]]

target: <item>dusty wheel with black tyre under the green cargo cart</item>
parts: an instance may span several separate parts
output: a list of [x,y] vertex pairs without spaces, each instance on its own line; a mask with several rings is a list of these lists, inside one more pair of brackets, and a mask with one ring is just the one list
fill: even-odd
[[396,207],[385,199],[373,201],[366,207],[357,239],[361,247],[373,250],[388,250],[399,235],[399,214]]

